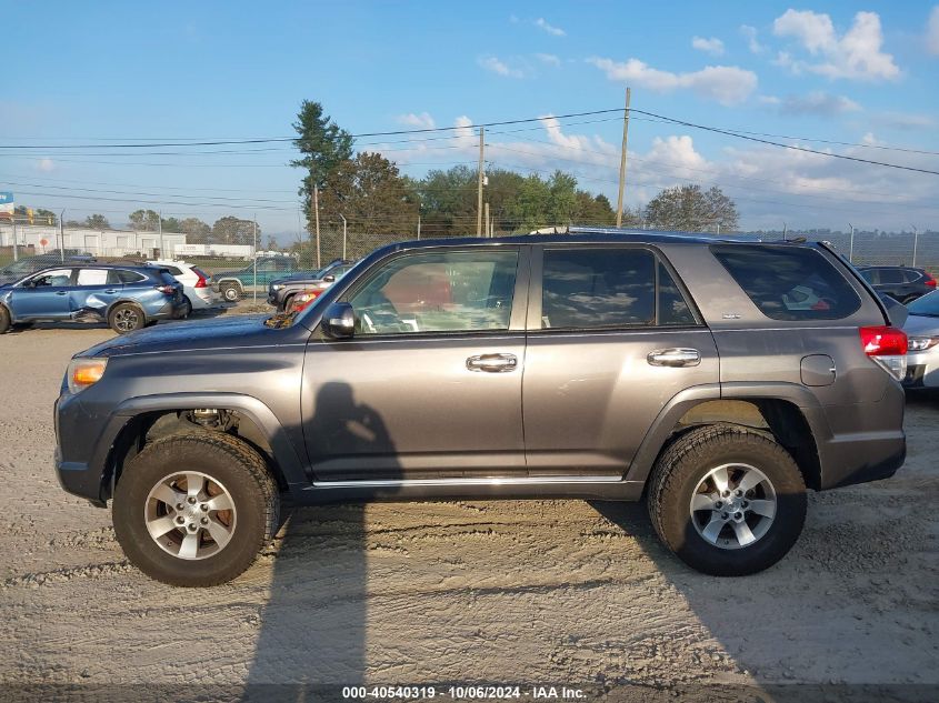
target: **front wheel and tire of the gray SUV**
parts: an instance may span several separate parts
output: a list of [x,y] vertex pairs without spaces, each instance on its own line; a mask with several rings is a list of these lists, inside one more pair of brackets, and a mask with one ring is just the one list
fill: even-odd
[[[198,502],[190,508],[183,492],[189,480],[183,479],[193,474],[202,483],[193,496]],[[184,501],[178,503],[183,510],[156,498],[158,486],[179,490],[176,495],[183,498],[166,490],[160,495]],[[232,508],[203,511],[203,504],[211,504],[210,495],[227,495]],[[112,518],[124,554],[144,574],[170,585],[213,586],[231,581],[254,562],[277,530],[279,511],[277,483],[254,450],[228,434],[193,432],[157,440],[128,463],[114,490]],[[176,528],[180,519],[184,526]],[[161,520],[162,526],[154,531],[170,529],[151,536],[148,521],[153,525]],[[198,526],[207,520],[214,526]],[[227,541],[219,545],[214,534],[227,535]],[[198,544],[194,555],[180,555],[186,540]]]

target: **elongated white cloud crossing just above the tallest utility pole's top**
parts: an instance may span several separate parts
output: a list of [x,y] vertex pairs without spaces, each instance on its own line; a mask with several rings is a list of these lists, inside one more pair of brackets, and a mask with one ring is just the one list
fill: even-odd
[[708,66],[690,73],[672,73],[653,69],[639,59],[618,62],[595,57],[587,61],[606,72],[611,81],[626,81],[657,92],[688,89],[726,106],[742,102],[757,89],[757,74],[736,66]]

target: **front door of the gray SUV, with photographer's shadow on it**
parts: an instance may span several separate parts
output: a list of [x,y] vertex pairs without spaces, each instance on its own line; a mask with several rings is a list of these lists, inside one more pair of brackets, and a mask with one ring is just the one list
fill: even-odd
[[350,340],[307,348],[303,431],[319,481],[525,476],[527,247],[421,249],[340,300]]

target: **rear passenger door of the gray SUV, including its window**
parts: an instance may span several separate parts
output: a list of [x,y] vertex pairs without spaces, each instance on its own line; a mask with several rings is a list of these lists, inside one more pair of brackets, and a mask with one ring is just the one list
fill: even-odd
[[671,268],[643,245],[546,244],[532,280],[529,474],[619,480],[676,393],[718,383],[713,338]]

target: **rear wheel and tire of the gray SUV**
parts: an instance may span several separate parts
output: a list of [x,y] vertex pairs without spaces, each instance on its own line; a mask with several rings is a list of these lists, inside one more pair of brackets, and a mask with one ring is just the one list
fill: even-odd
[[[721,482],[730,495],[718,493]],[[749,490],[740,496],[736,486]],[[789,452],[762,432],[732,424],[681,436],[661,454],[649,481],[649,515],[659,539],[686,564],[713,576],[753,574],[782,559],[802,531],[806,503],[806,484]]]

